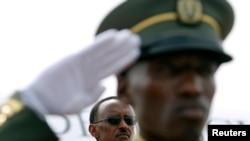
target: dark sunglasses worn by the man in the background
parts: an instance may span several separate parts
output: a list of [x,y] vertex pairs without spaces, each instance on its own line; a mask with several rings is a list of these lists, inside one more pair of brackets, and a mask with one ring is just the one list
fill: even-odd
[[135,125],[135,123],[136,123],[136,119],[133,116],[125,116],[124,118],[122,118],[120,116],[113,115],[113,116],[110,116],[108,118],[96,121],[96,122],[94,122],[94,124],[99,123],[99,122],[103,122],[103,121],[107,121],[110,125],[116,126],[116,125],[120,124],[122,119],[126,122],[127,125]]

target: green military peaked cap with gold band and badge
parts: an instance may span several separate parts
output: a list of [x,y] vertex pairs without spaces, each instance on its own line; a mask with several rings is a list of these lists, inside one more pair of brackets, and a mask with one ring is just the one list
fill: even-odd
[[127,0],[101,22],[97,33],[130,29],[142,39],[141,58],[178,51],[204,51],[223,63],[232,57],[222,42],[234,12],[226,0]]

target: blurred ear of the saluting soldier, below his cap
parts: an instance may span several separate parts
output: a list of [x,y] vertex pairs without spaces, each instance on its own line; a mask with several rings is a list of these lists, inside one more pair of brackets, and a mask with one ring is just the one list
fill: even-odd
[[129,81],[126,75],[117,75],[117,81],[118,81],[117,95],[119,99],[124,103],[133,105],[130,93],[128,92]]

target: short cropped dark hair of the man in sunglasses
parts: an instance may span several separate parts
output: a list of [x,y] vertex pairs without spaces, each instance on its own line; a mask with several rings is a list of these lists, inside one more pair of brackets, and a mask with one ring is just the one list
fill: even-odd
[[95,122],[95,118],[96,118],[96,114],[98,112],[98,109],[100,107],[100,105],[105,102],[105,101],[108,101],[108,100],[111,100],[111,99],[118,99],[117,96],[110,96],[110,97],[106,97],[100,101],[98,101],[91,109],[90,111],[90,115],[89,115],[89,122],[90,123],[94,123]]

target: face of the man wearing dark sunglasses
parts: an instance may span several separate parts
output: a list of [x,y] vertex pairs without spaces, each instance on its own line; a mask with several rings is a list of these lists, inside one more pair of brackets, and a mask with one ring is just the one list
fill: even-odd
[[[108,120],[109,118],[109,120]],[[117,119],[121,119],[120,122]],[[118,100],[103,102],[95,118],[94,135],[98,141],[130,141],[134,136],[135,113],[130,105]]]

